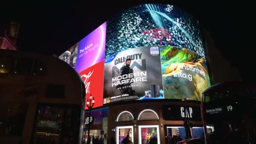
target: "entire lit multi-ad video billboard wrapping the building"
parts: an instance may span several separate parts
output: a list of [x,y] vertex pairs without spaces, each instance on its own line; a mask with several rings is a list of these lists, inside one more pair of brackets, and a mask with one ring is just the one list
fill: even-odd
[[94,107],[142,99],[200,101],[210,87],[199,23],[173,5],[127,8],[59,58],[80,73]]

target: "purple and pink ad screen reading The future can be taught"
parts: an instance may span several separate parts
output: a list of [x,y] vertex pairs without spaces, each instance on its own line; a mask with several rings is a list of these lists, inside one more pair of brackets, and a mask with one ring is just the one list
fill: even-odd
[[77,72],[104,60],[106,22],[83,38],[78,44]]

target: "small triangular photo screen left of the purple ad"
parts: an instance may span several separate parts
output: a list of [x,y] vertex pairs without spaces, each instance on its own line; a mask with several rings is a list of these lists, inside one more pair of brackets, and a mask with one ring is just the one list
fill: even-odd
[[76,43],[71,48],[69,48],[67,51],[62,53],[59,56],[59,59],[65,61],[71,67],[75,68],[76,67],[76,63],[77,63],[77,50],[78,50],[78,43]]

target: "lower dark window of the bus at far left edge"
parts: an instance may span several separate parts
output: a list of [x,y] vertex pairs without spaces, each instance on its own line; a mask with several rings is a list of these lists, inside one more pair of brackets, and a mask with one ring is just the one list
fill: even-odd
[[0,103],[0,136],[21,136],[28,105],[24,103]]

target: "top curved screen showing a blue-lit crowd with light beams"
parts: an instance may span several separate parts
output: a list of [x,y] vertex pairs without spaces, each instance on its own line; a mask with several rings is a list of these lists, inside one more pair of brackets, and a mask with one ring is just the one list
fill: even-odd
[[130,48],[172,45],[205,57],[197,20],[173,5],[145,4],[107,21],[105,58]]

